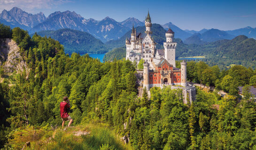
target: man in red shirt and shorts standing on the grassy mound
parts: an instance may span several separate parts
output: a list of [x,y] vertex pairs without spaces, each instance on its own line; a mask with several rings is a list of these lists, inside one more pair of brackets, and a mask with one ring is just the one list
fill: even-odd
[[63,102],[60,104],[61,117],[62,117],[62,128],[64,127],[65,121],[70,120],[68,127],[73,122],[73,119],[68,114],[68,108],[70,108],[70,100],[68,97],[63,98]]

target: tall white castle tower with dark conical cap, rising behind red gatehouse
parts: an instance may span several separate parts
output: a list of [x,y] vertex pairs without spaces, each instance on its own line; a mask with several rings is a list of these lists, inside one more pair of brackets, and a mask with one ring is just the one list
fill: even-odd
[[175,48],[177,43],[173,42],[174,32],[169,29],[165,33],[166,42],[163,42],[164,47],[164,58],[173,65],[173,67],[176,67],[175,63]]

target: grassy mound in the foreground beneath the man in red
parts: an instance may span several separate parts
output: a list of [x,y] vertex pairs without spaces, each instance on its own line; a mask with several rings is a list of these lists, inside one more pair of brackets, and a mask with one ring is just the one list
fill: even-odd
[[[76,132],[89,133],[76,136]],[[109,149],[106,149],[108,148]],[[58,128],[48,132],[27,150],[133,150],[124,144],[113,130],[104,125],[86,124],[66,130]]]

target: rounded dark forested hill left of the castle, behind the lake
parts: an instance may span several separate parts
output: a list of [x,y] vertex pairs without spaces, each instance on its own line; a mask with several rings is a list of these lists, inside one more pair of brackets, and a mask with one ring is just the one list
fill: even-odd
[[108,48],[101,42],[101,40],[96,39],[87,32],[60,29],[56,31],[40,31],[37,34],[42,37],[47,36],[58,40],[64,46],[65,52],[69,54],[72,52],[77,52],[79,54],[108,52]]

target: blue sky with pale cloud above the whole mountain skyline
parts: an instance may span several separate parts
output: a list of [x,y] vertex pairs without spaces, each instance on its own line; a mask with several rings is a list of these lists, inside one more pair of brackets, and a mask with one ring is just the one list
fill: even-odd
[[149,9],[153,23],[172,22],[183,30],[256,27],[256,0],[0,0],[0,11],[14,6],[32,14],[70,10],[85,19],[116,21],[143,21]]

